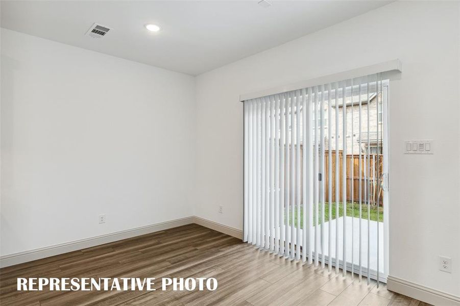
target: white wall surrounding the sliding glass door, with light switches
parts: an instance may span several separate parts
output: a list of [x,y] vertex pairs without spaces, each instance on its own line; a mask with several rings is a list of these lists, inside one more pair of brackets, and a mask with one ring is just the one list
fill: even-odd
[[[395,2],[199,75],[197,216],[243,228],[239,94],[399,58],[403,73],[390,89],[390,275],[460,296],[458,20],[458,2]],[[425,138],[434,155],[403,155],[405,139]],[[438,270],[440,254],[452,258],[452,273]]]

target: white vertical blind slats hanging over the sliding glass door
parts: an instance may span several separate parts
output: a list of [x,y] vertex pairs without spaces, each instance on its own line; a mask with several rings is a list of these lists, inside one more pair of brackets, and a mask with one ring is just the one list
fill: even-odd
[[373,74],[244,101],[244,241],[379,281],[382,92]]

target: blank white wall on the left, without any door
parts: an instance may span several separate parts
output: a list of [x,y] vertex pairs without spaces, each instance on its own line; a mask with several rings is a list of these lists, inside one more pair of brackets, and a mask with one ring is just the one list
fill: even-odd
[[192,215],[193,77],[1,34],[2,255]]

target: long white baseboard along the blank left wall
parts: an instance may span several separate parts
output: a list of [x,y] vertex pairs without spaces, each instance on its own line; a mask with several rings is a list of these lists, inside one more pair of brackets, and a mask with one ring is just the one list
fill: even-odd
[[51,257],[67,252],[77,251],[84,248],[110,243],[118,240],[132,238],[140,235],[150,234],[158,231],[167,230],[181,225],[193,223],[193,217],[186,217],[147,226],[132,228],[131,230],[115,232],[67,243],[42,247],[24,252],[18,252],[0,257],[0,268],[22,264],[37,259]]

